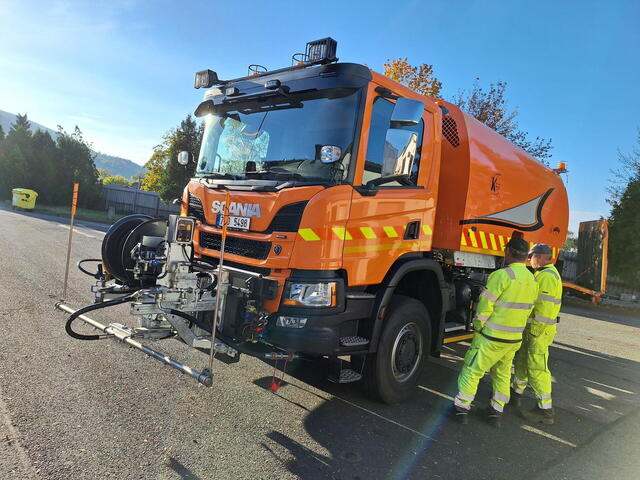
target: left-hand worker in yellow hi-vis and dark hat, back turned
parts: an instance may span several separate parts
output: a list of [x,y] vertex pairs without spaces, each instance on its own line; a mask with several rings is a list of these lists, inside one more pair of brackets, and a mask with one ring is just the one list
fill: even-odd
[[454,399],[455,417],[467,423],[478,383],[486,372],[491,374],[493,395],[488,409],[489,420],[497,427],[509,402],[511,364],[522,342],[527,319],[538,298],[538,286],[525,260],[529,245],[512,238],[505,247],[505,267],[496,270],[486,288],[473,319],[476,334],[464,357],[458,377],[458,394]]

